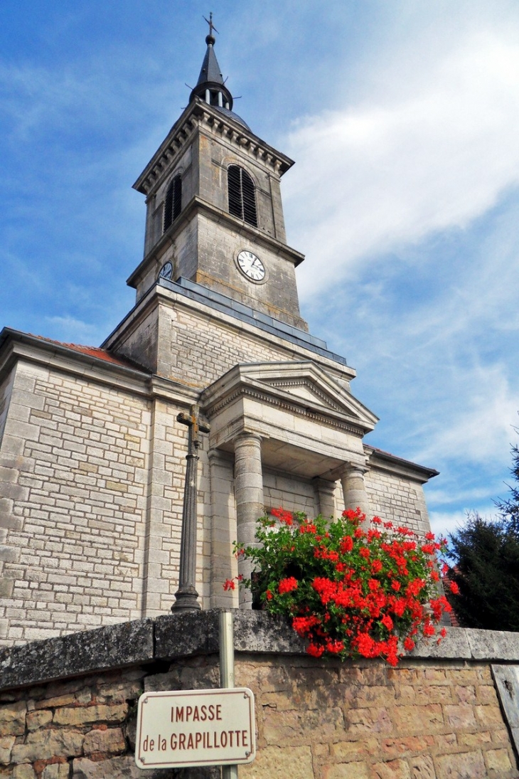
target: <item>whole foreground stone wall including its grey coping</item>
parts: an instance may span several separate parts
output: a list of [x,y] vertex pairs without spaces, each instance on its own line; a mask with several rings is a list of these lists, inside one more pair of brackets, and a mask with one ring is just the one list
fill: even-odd
[[[170,769],[135,767],[135,704],[144,691],[219,686],[216,617],[216,612],[176,615],[155,625],[135,623],[135,629],[68,636],[59,647],[42,642],[0,654],[7,668],[7,683],[0,688],[0,777],[179,776]],[[492,657],[477,657],[494,653],[517,663],[519,642],[515,634],[499,633],[490,633],[486,642],[482,633],[450,629],[441,647],[423,649],[398,668],[383,661],[341,664],[303,654],[285,622],[240,612],[236,684],[254,692],[258,748],[254,763],[239,768],[240,777],[518,777]],[[67,641],[75,642],[75,660]],[[103,642],[110,647],[110,665],[101,657]],[[58,651],[65,658],[61,679],[45,681],[59,668]],[[24,662],[33,663],[38,653],[40,681],[36,668],[24,670]],[[93,670],[96,662],[101,667]],[[219,771],[181,775],[202,779]]]

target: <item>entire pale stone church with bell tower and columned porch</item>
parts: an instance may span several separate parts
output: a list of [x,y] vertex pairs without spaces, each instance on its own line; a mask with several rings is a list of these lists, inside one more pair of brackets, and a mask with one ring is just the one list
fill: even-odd
[[[197,405],[196,587],[236,606],[233,541],[271,507],[361,506],[429,530],[437,474],[366,445],[355,370],[310,335],[286,243],[293,160],[233,112],[207,51],[188,107],[135,182],[146,197],[135,306],[99,348],[0,333],[0,643],[155,617],[178,587]],[[248,605],[248,604],[244,604]]]

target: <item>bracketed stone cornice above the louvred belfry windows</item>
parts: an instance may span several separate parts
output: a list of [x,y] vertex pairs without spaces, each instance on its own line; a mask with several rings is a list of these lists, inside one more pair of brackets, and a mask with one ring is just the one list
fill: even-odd
[[163,140],[133,188],[149,196],[160,185],[163,175],[170,168],[171,160],[181,153],[181,150],[195,134],[196,129],[205,129],[213,135],[225,138],[228,143],[238,146],[242,153],[247,150],[262,164],[271,168],[275,174],[282,175],[293,165],[293,160],[286,154],[269,146],[244,125],[235,122],[233,118],[196,98],[170,129],[167,138]]

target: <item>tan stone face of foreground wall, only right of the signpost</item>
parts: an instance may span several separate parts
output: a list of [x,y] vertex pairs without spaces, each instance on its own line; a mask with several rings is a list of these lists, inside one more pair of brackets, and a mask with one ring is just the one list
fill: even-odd
[[488,664],[240,661],[258,757],[242,777],[517,777]]

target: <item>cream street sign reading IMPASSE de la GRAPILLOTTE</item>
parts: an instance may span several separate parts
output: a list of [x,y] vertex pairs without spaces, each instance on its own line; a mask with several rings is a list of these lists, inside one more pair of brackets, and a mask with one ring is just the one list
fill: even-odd
[[233,765],[251,763],[255,756],[250,689],[179,690],[139,698],[139,768]]

